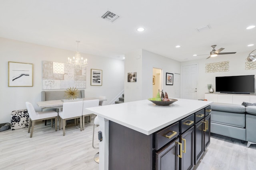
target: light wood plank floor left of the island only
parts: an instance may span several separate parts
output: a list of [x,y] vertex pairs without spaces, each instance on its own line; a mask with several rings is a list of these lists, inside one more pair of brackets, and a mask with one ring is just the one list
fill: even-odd
[[[98,170],[92,148],[93,119],[86,123],[84,131],[80,125],[55,131],[51,125],[37,123],[33,137],[28,128],[2,131],[0,133],[1,170]],[[48,121],[48,124],[49,121]],[[95,132],[98,133],[96,127]],[[95,133],[95,134],[96,134]],[[98,135],[95,146],[98,146]]]

